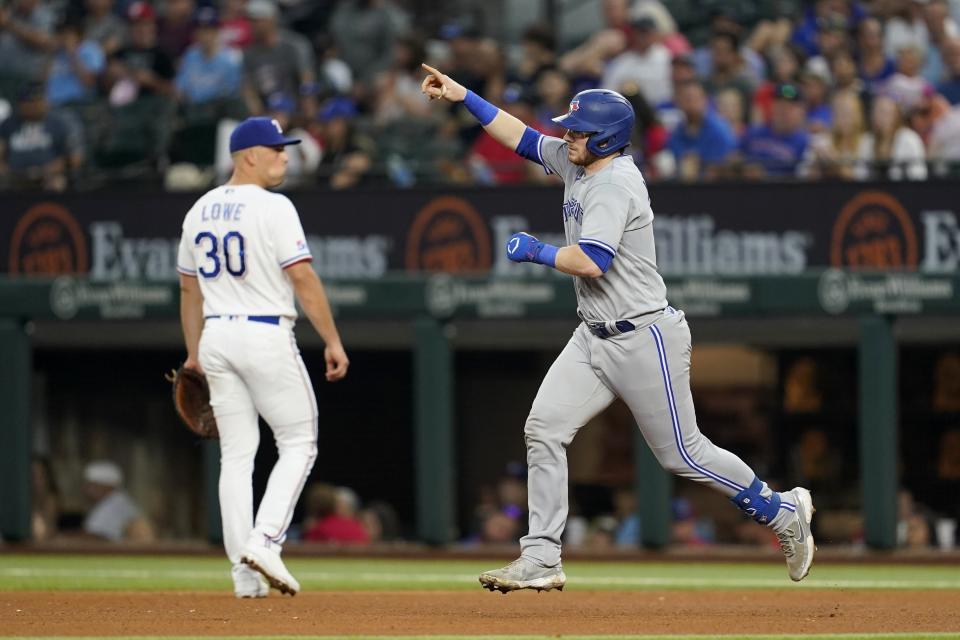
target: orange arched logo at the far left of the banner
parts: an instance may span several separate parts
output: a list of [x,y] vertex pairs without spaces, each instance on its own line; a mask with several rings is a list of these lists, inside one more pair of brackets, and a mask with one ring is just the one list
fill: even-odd
[[70,212],[42,202],[30,208],[10,238],[11,274],[63,275],[86,273],[87,240]]

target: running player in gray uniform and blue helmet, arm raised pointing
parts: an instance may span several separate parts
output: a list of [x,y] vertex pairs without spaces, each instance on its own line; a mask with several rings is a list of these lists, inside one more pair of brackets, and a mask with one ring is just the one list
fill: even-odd
[[423,67],[429,75],[421,89],[428,97],[463,102],[498,142],[563,178],[566,246],[517,233],[506,251],[512,261],[574,276],[583,320],[547,372],[527,416],[530,520],[529,532],[520,540],[521,555],[502,569],[481,574],[480,583],[504,593],[563,588],[566,449],[580,427],[618,397],[665,469],[710,485],[771,527],[790,577],[802,580],[816,550],[810,492],[803,487],[773,491],[697,427],[690,393],[690,329],[683,312],[667,304],[647,186],[623,153],[633,130],[633,107],[614,91],[583,91],[573,97],[566,115],[554,118],[567,133],[553,138],[440,71]]

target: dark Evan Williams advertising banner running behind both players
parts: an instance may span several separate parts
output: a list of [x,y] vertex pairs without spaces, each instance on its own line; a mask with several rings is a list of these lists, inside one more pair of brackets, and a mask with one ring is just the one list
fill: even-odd
[[[952,273],[960,265],[955,194],[947,182],[650,185],[657,258],[668,277],[792,275],[825,267]],[[512,264],[503,251],[516,231],[564,243],[556,187],[288,196],[325,277],[565,277]],[[5,195],[0,273],[173,281],[180,225],[196,197]],[[724,300],[738,295],[727,291]]]

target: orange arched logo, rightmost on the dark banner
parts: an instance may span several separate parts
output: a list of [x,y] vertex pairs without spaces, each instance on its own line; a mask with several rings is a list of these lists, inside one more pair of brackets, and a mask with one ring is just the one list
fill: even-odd
[[865,191],[853,198],[833,225],[830,263],[834,267],[915,268],[917,233],[896,198]]

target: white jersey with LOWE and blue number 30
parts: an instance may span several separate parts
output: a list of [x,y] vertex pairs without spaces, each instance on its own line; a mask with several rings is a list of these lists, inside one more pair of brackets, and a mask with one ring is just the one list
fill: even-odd
[[312,259],[289,198],[252,184],[223,185],[187,212],[177,270],[199,280],[205,317],[295,319],[293,283],[283,270]]

